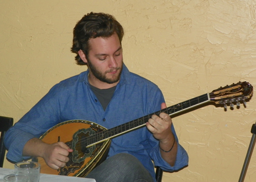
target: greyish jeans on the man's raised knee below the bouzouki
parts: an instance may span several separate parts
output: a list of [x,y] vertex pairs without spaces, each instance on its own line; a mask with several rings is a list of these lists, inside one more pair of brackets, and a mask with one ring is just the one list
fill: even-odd
[[105,160],[86,177],[97,182],[153,182],[151,174],[131,154],[119,153]]

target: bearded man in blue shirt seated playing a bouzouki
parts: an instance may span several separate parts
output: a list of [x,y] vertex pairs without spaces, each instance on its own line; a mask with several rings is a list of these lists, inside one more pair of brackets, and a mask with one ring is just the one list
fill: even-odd
[[[63,142],[46,144],[38,139],[52,126],[82,119],[112,128],[166,108],[160,89],[123,64],[123,28],[113,16],[89,13],[73,33],[71,50],[77,54],[77,64],[87,65],[88,70],[55,85],[9,129],[5,145],[11,161],[41,157],[58,169],[73,150]],[[153,115],[146,127],[112,139],[108,158],[87,177],[97,182],[155,181],[152,160],[166,171],[188,163],[165,113]]]

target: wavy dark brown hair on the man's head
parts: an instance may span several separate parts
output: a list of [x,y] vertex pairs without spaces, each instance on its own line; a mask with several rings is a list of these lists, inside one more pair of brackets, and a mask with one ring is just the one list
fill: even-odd
[[123,38],[122,25],[115,19],[114,16],[105,13],[88,13],[77,22],[73,30],[73,46],[72,53],[76,53],[75,60],[78,65],[86,65],[78,51],[82,50],[84,55],[88,55],[90,50],[89,39],[96,37],[110,37],[114,33],[119,37],[121,44]]

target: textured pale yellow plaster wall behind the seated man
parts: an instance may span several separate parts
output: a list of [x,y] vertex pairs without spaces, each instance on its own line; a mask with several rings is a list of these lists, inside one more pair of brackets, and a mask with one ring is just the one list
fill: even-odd
[[[16,122],[59,81],[86,70],[70,52],[86,13],[113,14],[123,25],[124,62],[156,83],[167,106],[248,81],[256,86],[255,1],[45,0],[0,6],[0,115]],[[256,120],[246,108],[208,105],[173,118],[189,166],[163,181],[238,181]],[[256,179],[256,151],[245,181]],[[4,167],[12,168],[5,162]]]

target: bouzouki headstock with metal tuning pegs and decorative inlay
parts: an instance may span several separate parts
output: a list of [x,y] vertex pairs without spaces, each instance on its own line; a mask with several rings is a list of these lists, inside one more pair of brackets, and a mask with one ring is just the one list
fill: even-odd
[[227,103],[230,107],[233,107],[233,102],[236,102],[237,106],[240,105],[240,101],[246,105],[246,99],[250,98],[253,93],[253,87],[248,82],[239,82],[237,84],[227,85],[213,90],[210,95],[210,100],[216,103],[221,103],[224,108],[227,108]]

